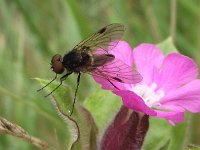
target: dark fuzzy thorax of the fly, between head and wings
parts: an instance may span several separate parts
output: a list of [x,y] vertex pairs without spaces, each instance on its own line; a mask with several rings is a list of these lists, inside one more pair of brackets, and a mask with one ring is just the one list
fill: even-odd
[[82,68],[91,63],[91,56],[84,51],[72,50],[63,57],[62,63],[67,71],[80,72]]

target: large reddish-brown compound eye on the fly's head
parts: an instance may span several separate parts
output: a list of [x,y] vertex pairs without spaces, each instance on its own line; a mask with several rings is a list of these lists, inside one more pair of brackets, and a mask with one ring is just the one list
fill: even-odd
[[62,64],[62,56],[56,54],[51,59],[51,68],[56,74],[62,74],[64,72],[64,66]]

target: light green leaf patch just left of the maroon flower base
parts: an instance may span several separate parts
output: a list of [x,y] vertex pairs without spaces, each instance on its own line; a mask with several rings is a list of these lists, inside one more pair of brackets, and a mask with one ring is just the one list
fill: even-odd
[[84,106],[92,113],[102,137],[104,130],[121,107],[121,100],[110,91],[97,89],[84,101]]

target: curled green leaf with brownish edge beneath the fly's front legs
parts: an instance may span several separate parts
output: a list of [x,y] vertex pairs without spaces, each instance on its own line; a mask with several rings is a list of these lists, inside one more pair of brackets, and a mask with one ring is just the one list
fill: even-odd
[[[42,86],[49,83],[48,80],[39,78],[36,78],[36,80],[39,81]],[[45,90],[49,93],[58,85],[59,83],[55,81],[47,86]],[[61,85],[51,94],[51,97],[51,102],[58,114],[67,124],[67,149],[95,149],[97,147],[97,128],[90,112],[76,103],[72,116],[69,116],[73,101],[71,88],[67,85]]]

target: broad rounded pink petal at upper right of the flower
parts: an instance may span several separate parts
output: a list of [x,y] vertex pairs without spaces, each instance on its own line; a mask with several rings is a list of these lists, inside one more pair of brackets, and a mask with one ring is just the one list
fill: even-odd
[[154,76],[154,82],[157,83],[158,88],[171,92],[196,79],[197,76],[198,68],[191,58],[171,53],[164,59],[159,75]]

